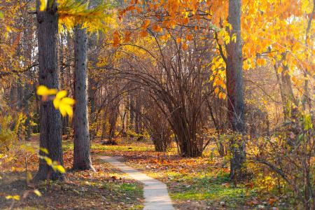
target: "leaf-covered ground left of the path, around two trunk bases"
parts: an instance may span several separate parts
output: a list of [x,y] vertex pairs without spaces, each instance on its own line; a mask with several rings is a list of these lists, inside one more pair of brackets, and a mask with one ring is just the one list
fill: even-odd
[[[12,151],[13,157],[0,160],[0,209],[142,209],[143,186],[130,179],[109,163],[92,157],[97,172],[71,172],[73,151],[70,141],[64,144],[66,181],[27,185],[27,169],[36,173],[38,158],[32,148]],[[9,160],[10,159],[10,160]],[[33,193],[37,189],[41,197]],[[8,195],[19,195],[20,200],[6,200]]]

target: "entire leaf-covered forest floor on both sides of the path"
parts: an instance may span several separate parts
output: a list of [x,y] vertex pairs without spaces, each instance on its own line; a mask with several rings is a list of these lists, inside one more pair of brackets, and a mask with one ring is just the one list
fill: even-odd
[[13,202],[6,200],[7,195],[20,195],[13,206],[18,209],[142,209],[141,183],[99,160],[99,155],[116,156],[126,165],[166,183],[175,209],[289,209],[285,197],[260,188],[267,185],[265,179],[237,186],[231,183],[228,160],[219,158],[211,146],[203,157],[182,158],[176,155],[175,148],[158,153],[151,143],[134,141],[121,141],[117,146],[94,142],[92,162],[96,173],[71,172],[73,144],[64,141],[67,179],[64,183],[35,186],[42,194],[38,197],[32,193],[34,186],[27,186],[25,172],[25,160],[27,170],[33,175],[36,172],[36,152],[27,149],[34,144],[36,140],[0,160],[0,209],[10,209]]

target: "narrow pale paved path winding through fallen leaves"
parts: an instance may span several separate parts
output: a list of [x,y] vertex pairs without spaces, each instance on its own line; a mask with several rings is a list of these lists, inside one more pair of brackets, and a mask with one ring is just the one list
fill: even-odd
[[116,158],[100,156],[99,159],[109,162],[114,167],[120,169],[120,171],[128,174],[132,179],[144,183],[144,210],[174,210],[165,183],[146,176],[146,174],[123,164]]

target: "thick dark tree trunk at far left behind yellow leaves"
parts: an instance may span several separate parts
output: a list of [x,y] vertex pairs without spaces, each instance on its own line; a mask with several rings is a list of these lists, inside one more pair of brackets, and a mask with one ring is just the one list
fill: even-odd
[[[37,32],[38,32],[38,63],[39,63],[39,84],[48,88],[58,89],[57,73],[57,33],[58,17],[57,4],[54,0],[48,1],[48,7],[44,11],[39,11],[37,1]],[[52,101],[41,102],[39,113],[41,134],[39,145],[49,152],[48,157],[52,161],[63,165],[62,160],[62,126],[61,115],[52,105]],[[39,151],[40,155],[45,155]],[[63,180],[64,174],[55,172],[47,165],[45,160],[39,161],[38,173],[34,180]]]

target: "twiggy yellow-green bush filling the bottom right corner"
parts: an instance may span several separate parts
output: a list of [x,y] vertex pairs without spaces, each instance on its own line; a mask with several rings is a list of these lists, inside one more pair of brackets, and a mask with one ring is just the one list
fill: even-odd
[[314,127],[309,114],[299,113],[271,137],[251,141],[248,159],[269,167],[285,182],[304,209],[314,209]]

